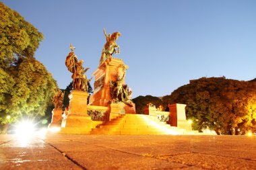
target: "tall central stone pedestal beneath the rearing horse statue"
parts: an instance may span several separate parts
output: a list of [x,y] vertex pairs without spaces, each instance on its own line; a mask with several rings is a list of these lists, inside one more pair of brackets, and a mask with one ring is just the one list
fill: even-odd
[[[112,100],[110,94],[110,81],[117,81],[117,75],[123,76],[123,60],[119,58],[110,58],[103,62],[93,75],[94,81],[94,93],[90,97],[90,105],[108,106]],[[124,65],[126,69],[129,67]],[[125,78],[123,79],[123,85],[125,85]],[[125,113],[135,114],[135,105],[132,107],[124,105]]]

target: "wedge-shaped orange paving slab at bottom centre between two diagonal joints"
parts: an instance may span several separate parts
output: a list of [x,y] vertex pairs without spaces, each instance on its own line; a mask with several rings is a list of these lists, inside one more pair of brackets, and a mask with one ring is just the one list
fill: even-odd
[[113,150],[76,151],[66,154],[86,169],[183,169],[188,167],[181,163],[155,159],[146,155],[133,155]]

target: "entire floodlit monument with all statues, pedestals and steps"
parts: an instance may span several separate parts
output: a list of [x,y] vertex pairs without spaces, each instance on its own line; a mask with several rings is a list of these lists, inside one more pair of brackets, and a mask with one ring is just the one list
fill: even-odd
[[[131,101],[131,89],[125,83],[129,68],[114,54],[120,53],[117,39],[120,32],[106,34],[106,43],[100,56],[100,64],[93,75],[94,93],[88,105],[88,82],[83,60],[78,60],[74,47],[66,57],[65,65],[72,73],[73,89],[69,94],[69,110],[63,116],[61,133],[64,134],[185,134],[191,131],[186,122],[185,106],[170,107],[170,112],[149,103],[146,114],[136,114],[135,103]],[[56,110],[59,107],[56,106]],[[57,111],[55,111],[57,112]],[[56,114],[57,116],[57,114]],[[56,117],[55,116],[55,117]],[[53,120],[59,119],[53,118]],[[54,122],[52,121],[52,122]],[[166,124],[168,122],[169,124]],[[183,128],[183,129],[179,129]]]

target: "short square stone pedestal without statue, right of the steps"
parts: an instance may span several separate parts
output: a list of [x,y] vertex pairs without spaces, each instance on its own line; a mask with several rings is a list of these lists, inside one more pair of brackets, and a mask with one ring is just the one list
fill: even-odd
[[172,104],[169,106],[170,110],[170,126],[176,126],[185,130],[192,130],[191,124],[187,122],[185,114],[185,104]]

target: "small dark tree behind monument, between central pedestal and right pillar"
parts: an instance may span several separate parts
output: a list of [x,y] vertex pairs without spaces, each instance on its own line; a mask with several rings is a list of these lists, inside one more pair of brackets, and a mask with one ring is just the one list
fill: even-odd
[[146,107],[148,103],[152,103],[156,105],[156,108],[158,108],[159,105],[162,105],[162,100],[159,97],[154,97],[152,95],[139,95],[138,97],[133,99],[133,103],[135,103],[136,105],[136,113],[144,114],[143,109]]

